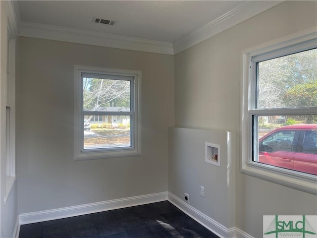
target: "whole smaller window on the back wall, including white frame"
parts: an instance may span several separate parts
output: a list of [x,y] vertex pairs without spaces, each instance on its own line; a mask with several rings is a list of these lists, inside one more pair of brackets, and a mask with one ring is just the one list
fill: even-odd
[[141,72],[74,66],[74,159],[141,154]]

